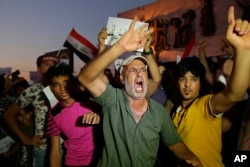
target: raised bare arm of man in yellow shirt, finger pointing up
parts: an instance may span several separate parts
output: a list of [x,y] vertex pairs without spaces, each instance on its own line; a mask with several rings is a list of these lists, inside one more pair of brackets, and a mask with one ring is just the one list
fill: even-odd
[[235,61],[229,83],[225,90],[211,98],[214,113],[229,110],[243,99],[250,81],[250,24],[234,18],[234,7],[228,10],[226,39],[235,48]]

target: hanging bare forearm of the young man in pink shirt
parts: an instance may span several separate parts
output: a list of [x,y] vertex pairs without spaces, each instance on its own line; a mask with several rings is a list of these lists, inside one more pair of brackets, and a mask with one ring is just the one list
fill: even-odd
[[50,166],[58,167],[61,166],[61,147],[60,147],[60,136],[50,137],[51,148],[50,148]]

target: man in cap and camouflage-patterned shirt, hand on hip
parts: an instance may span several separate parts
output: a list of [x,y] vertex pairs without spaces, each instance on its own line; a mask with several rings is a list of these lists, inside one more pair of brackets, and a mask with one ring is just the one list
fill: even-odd
[[[47,99],[43,94],[43,89],[47,86],[45,73],[49,67],[56,65],[59,58],[51,55],[42,55],[37,58],[37,71],[41,73],[42,80],[39,83],[31,85],[27,88],[13,103],[4,114],[4,121],[10,130],[25,144],[33,145],[33,165],[36,167],[44,167],[48,164],[47,139],[44,137],[44,125],[47,112],[50,108]],[[16,115],[21,109],[32,104],[34,107],[35,135],[27,136],[19,127],[16,121]],[[48,156],[48,155],[47,155]]]

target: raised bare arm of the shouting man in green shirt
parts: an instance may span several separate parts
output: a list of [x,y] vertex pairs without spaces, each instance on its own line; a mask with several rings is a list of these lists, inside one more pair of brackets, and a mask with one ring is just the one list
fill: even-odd
[[116,44],[92,59],[78,75],[79,82],[93,97],[100,96],[106,89],[106,83],[98,77],[104,69],[122,54],[143,48],[147,40],[146,36],[153,32],[153,29],[144,31],[146,24],[134,29],[135,23],[136,19],[132,21],[129,30]]

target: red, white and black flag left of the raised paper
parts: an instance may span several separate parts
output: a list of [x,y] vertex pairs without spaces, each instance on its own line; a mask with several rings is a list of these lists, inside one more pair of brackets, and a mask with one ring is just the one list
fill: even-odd
[[89,62],[98,53],[98,49],[74,28],[71,30],[63,46],[76,53],[85,63]]

